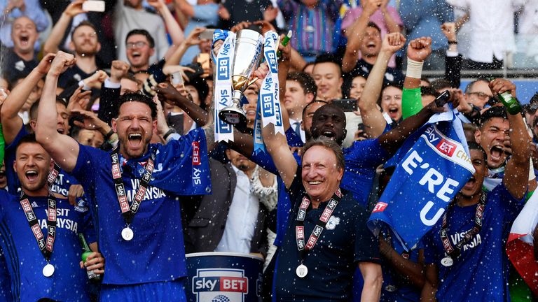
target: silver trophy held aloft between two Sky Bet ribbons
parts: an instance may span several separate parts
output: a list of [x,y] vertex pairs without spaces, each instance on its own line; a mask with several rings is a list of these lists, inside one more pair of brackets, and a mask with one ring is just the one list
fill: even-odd
[[235,51],[232,62],[232,104],[219,112],[219,118],[228,124],[245,126],[247,115],[241,106],[244,90],[253,82],[253,73],[258,69],[261,54],[261,34],[251,29],[242,29],[235,36]]

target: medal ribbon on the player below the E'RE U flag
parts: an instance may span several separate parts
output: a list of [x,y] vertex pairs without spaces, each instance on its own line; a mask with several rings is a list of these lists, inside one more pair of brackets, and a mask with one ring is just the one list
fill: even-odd
[[441,241],[443,242],[445,252],[446,254],[448,254],[448,257],[452,259],[460,257],[462,247],[466,245],[482,229],[482,219],[485,210],[485,193],[482,193],[482,195],[480,196],[480,201],[478,201],[478,204],[476,205],[476,214],[474,215],[474,227],[467,231],[467,233],[465,233],[463,238],[458,241],[458,243],[456,243],[455,247],[452,246],[452,244],[450,243],[450,238],[448,238],[448,211],[450,211],[450,209],[452,209],[454,205],[455,202],[452,202],[446,209],[445,215],[443,215],[443,223],[441,224],[440,231]]

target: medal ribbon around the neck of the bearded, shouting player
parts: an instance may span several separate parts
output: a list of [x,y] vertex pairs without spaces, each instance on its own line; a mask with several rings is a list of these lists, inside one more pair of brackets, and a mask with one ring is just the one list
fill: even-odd
[[129,206],[129,201],[127,201],[127,194],[125,192],[125,185],[123,184],[123,178],[120,170],[120,157],[119,157],[119,145],[112,151],[110,154],[112,161],[112,178],[114,180],[114,187],[116,188],[116,195],[118,196],[118,202],[120,203],[121,214],[125,224],[131,224],[135,214],[140,208],[140,203],[144,199],[146,194],[146,189],[149,187],[149,181],[151,180],[151,174],[153,173],[153,168],[155,166],[154,159],[155,154],[151,152],[151,155],[147,161],[144,175],[140,180],[140,186],[138,187],[137,194],[133,199],[131,206]]

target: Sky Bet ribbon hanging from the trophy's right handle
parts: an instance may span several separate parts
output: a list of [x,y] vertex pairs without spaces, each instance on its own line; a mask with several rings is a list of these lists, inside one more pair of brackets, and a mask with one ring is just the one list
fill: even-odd
[[254,121],[254,152],[265,151],[261,129],[268,124],[273,124],[275,134],[284,134],[282,124],[282,109],[279,99],[278,82],[278,62],[277,43],[278,35],[274,31],[265,33],[263,40],[263,57],[269,67],[269,72],[263,79],[260,92],[258,93],[258,108],[256,109],[256,120]]

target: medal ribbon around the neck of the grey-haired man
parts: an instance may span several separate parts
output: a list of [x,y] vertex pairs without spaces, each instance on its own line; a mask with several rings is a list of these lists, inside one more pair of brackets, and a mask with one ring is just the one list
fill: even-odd
[[310,199],[308,199],[308,196],[303,196],[303,201],[301,201],[301,205],[299,205],[299,211],[297,213],[296,218],[296,227],[295,227],[295,238],[297,241],[297,250],[301,252],[301,259],[305,259],[306,254],[308,251],[312,250],[314,246],[317,243],[317,240],[320,236],[322,236],[322,232],[325,229],[325,225],[329,221],[329,218],[333,214],[334,210],[336,209],[336,206],[338,206],[338,203],[340,203],[340,200],[342,200],[342,191],[340,188],[334,192],[331,199],[329,199],[329,202],[327,203],[327,206],[323,210],[322,215],[319,217],[319,222],[316,223],[316,226],[312,230],[312,233],[310,233],[310,237],[308,238],[308,241],[305,243],[305,217],[306,213],[308,212],[308,208],[310,207]]

